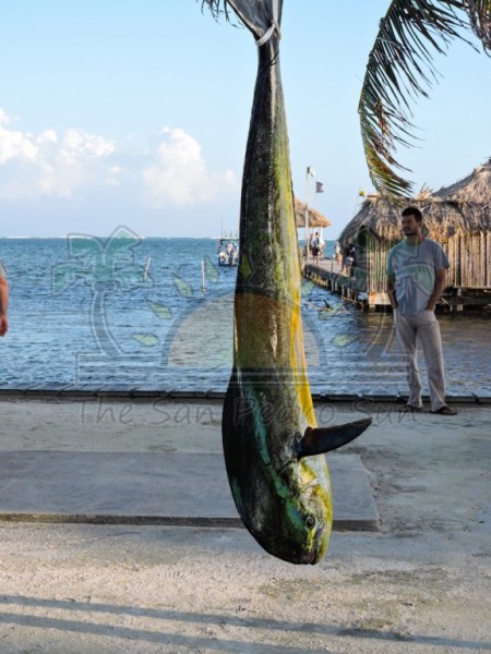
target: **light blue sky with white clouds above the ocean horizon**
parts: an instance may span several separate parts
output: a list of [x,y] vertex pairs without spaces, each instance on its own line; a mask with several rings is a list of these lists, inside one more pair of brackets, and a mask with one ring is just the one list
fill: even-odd
[[[357,114],[388,0],[285,0],[282,75],[294,190],[337,238],[372,191]],[[256,69],[246,29],[195,0],[16,0],[2,5],[0,237],[73,232],[218,237],[238,227]],[[464,44],[414,120],[398,158],[419,190],[491,156],[491,61]]]

